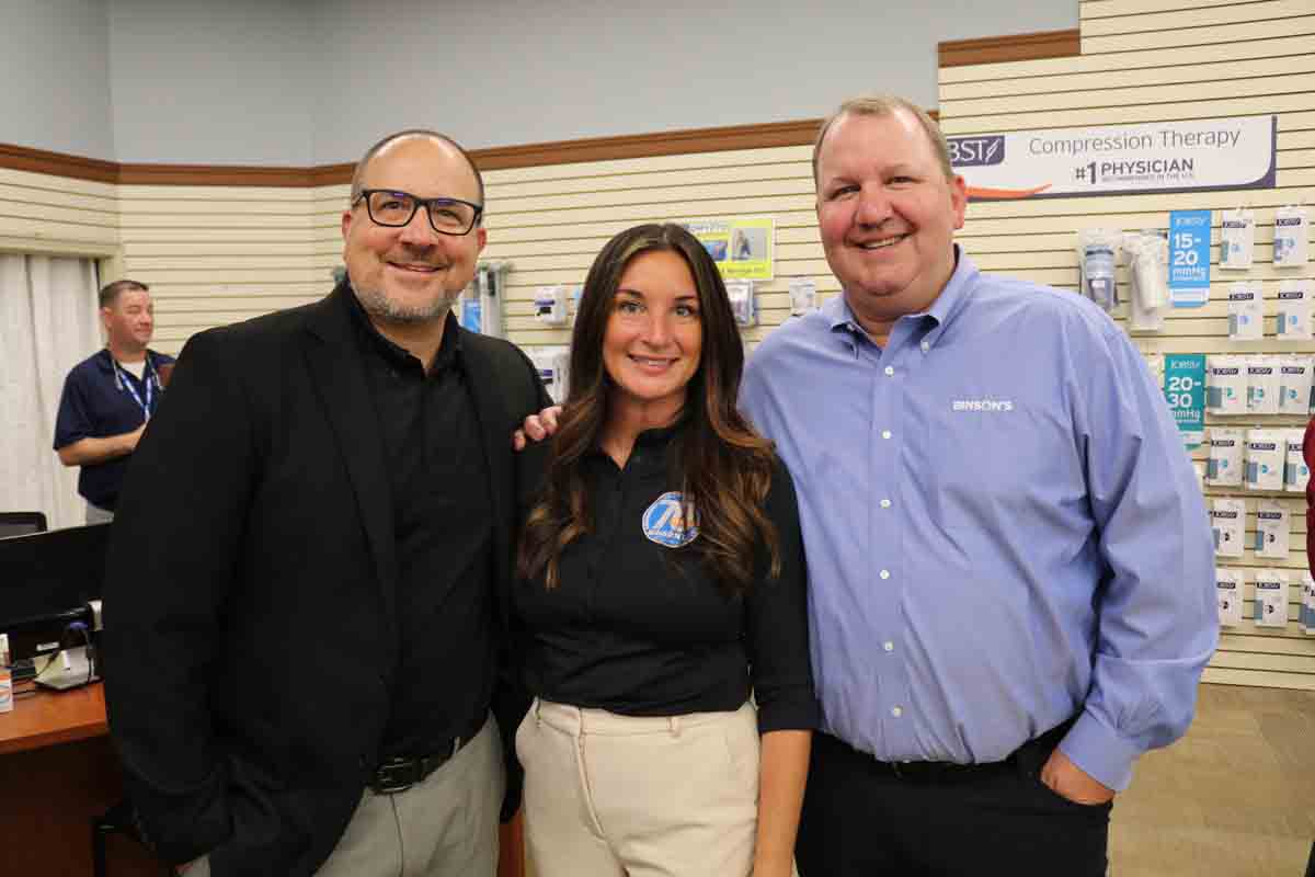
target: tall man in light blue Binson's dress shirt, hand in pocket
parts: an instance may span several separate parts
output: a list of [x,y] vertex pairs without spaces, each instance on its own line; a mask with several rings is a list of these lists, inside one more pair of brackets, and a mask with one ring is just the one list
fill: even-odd
[[1218,638],[1182,440],[1103,312],[953,243],[965,185],[922,110],[849,101],[814,175],[843,295],[742,392],[809,561],[801,873],[1103,876],[1111,801]]

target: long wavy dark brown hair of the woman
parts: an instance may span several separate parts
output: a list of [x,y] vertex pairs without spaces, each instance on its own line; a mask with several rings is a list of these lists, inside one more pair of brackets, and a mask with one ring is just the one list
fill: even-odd
[[768,575],[781,569],[776,527],[763,513],[776,455],[736,406],[744,346],[717,263],[694,235],[672,224],[622,231],[589,268],[571,335],[569,394],[558,418],[543,489],[525,523],[517,572],[525,579],[542,572],[547,586],[556,586],[562,551],[593,530],[581,460],[598,447],[608,422],[611,379],[602,362],[602,339],[626,266],[655,250],[675,252],[689,266],[704,330],[698,371],[686,388],[684,426],[668,459],[675,462],[685,501],[698,513],[693,548],[727,594],[743,594],[752,584],[760,542]]

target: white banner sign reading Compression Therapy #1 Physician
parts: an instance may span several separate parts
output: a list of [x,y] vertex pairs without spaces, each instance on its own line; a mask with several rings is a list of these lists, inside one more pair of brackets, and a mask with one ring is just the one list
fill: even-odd
[[949,137],[977,201],[1274,187],[1277,116]]

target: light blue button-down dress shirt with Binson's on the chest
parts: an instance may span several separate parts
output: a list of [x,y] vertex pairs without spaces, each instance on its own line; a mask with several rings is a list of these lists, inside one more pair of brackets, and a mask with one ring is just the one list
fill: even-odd
[[1060,748],[1112,789],[1181,736],[1218,640],[1214,548],[1140,354],[1089,301],[963,252],[885,348],[843,296],[740,401],[798,489],[825,728],[888,761]]

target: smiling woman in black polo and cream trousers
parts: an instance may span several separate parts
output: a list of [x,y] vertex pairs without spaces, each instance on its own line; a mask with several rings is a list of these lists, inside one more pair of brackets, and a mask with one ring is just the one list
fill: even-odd
[[743,362],[693,235],[604,247],[558,433],[531,451],[514,597],[542,877],[792,873],[818,722],[803,548],[789,473],[736,409]]

